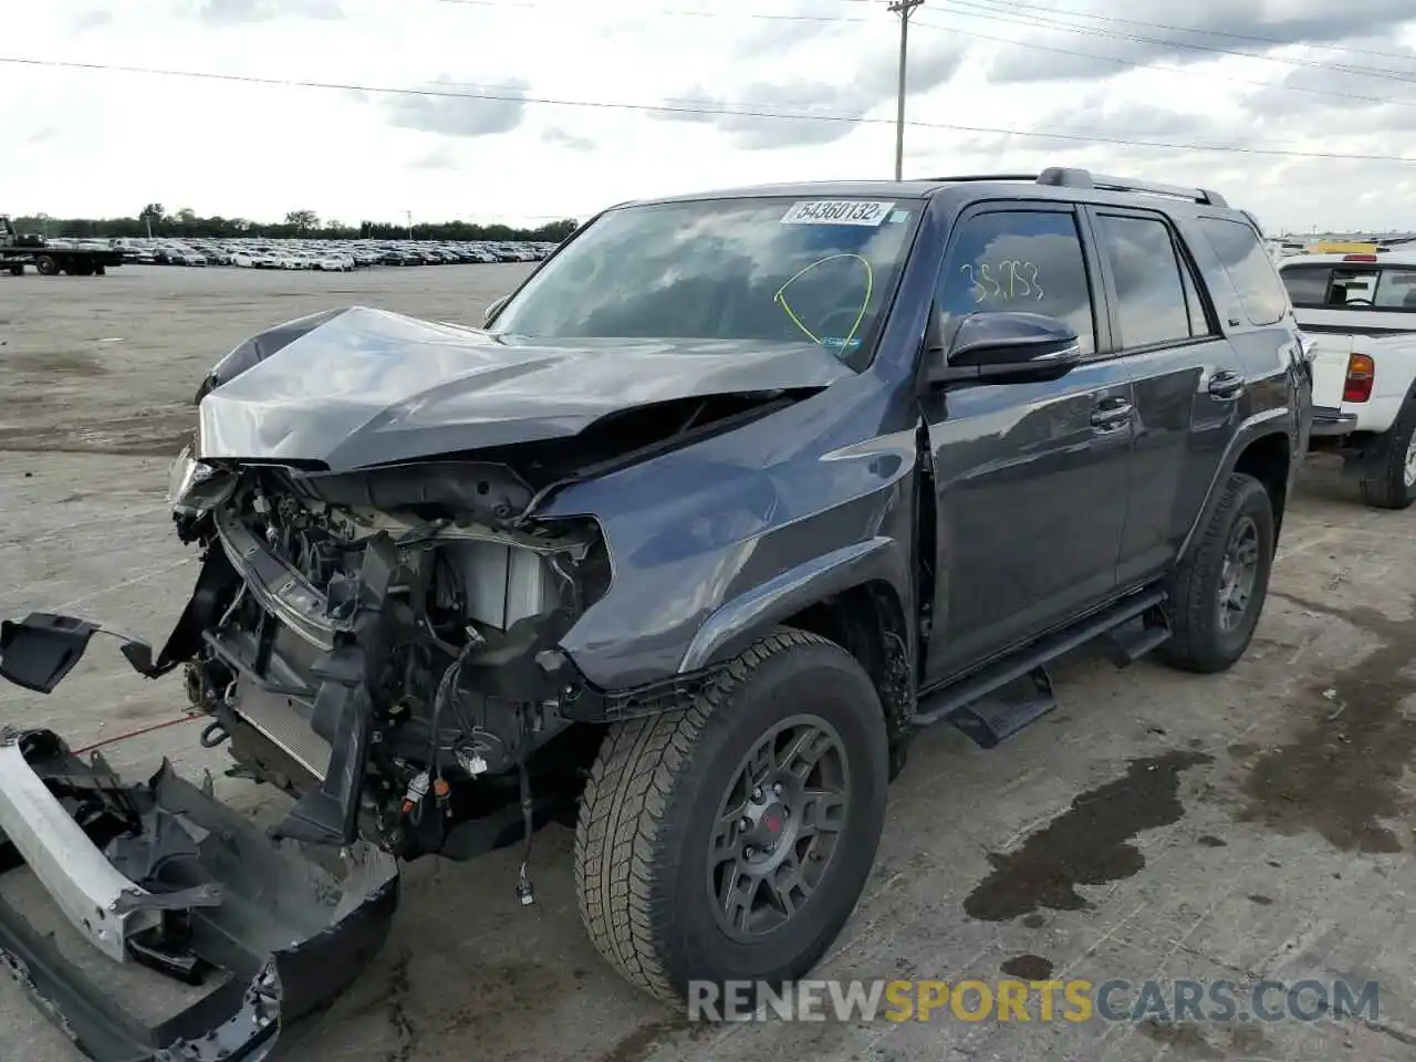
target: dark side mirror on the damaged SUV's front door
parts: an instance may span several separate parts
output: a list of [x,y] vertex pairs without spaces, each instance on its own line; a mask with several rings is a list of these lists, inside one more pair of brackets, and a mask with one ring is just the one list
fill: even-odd
[[[932,329],[935,334],[942,330]],[[929,350],[929,382],[1056,379],[1082,361],[1076,330],[1042,313],[970,313],[947,347]]]

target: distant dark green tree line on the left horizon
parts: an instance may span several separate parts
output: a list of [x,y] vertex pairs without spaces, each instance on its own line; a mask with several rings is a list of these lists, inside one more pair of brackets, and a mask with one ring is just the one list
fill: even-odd
[[320,218],[313,210],[292,210],[279,222],[251,221],[249,218],[198,217],[195,211],[183,208],[167,212],[160,202],[149,202],[132,218],[51,218],[35,214],[14,218],[17,232],[34,232],[50,239],[113,239],[137,236],[161,236],[169,239],[227,238],[239,239],[265,236],[270,239],[489,239],[489,241],[545,241],[558,244],[571,235],[578,222],[573,218],[552,221],[539,228],[515,228],[514,225],[476,225],[466,221],[418,222],[399,225],[388,221],[361,221],[347,225],[343,221]]

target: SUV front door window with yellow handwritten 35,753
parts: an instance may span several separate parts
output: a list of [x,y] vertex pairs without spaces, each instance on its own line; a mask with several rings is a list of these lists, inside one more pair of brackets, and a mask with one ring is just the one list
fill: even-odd
[[963,221],[936,296],[946,329],[967,313],[1027,310],[1070,324],[1083,354],[1096,350],[1092,286],[1070,212],[995,211]]

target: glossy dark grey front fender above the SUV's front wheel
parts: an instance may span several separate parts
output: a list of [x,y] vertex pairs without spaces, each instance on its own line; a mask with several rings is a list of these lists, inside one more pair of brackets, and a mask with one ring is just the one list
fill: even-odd
[[566,487],[537,515],[593,517],[612,575],[562,651],[593,687],[627,690],[718,657],[813,586],[881,578],[909,615],[916,421],[903,387],[867,372]]

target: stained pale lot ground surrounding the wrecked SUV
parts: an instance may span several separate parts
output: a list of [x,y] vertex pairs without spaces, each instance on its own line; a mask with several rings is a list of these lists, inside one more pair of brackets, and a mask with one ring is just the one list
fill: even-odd
[[[480,320],[524,266],[354,275],[126,266],[0,278],[0,616],[74,610],[166,637],[195,575],[164,508],[201,375],[253,331],[338,304]],[[405,875],[392,937],[285,1058],[350,1062],[862,1059],[1416,1059],[1416,510],[1378,513],[1310,462],[1249,656],[1219,677],[1083,657],[1062,708],[993,752],[927,732],[892,793],[865,899],[823,977],[1146,978],[1381,986],[1376,1017],[1223,1024],[780,1021],[705,1027],[640,997],[585,937],[571,834]],[[173,719],[180,678],[147,683],[95,644],[50,698],[0,690],[0,722],[75,746]],[[112,745],[219,776],[191,724]],[[24,899],[23,874],[6,895]],[[33,889],[30,889],[33,892]],[[33,899],[33,896],[31,896]],[[1007,973],[1004,973],[1007,971]],[[1276,997],[1277,998],[1277,997]],[[149,1004],[154,1005],[152,1000]],[[75,1055],[8,980],[0,1059]]]

